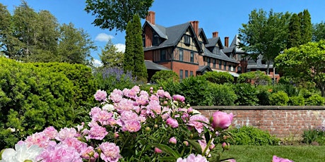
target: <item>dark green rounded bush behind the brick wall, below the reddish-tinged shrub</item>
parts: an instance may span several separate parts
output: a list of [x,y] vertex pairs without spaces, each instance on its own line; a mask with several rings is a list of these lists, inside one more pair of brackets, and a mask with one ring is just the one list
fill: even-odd
[[235,93],[237,99],[236,105],[239,106],[255,106],[259,102],[257,94],[259,93],[253,85],[249,83],[239,83],[235,85]]

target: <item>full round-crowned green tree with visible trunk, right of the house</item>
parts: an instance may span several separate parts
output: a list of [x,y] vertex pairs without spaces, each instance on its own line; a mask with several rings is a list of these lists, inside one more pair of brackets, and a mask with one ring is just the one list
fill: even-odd
[[249,22],[240,28],[240,46],[251,58],[257,60],[260,56],[267,63],[267,74],[273,59],[285,49],[288,38],[288,20],[290,14],[274,13],[272,10],[252,11]]

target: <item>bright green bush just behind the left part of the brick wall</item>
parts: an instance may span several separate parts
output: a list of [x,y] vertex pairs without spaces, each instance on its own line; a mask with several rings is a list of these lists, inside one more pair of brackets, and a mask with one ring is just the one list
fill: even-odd
[[210,91],[213,96],[214,106],[232,106],[235,105],[237,95],[235,94],[232,85],[218,85],[215,83],[209,83]]

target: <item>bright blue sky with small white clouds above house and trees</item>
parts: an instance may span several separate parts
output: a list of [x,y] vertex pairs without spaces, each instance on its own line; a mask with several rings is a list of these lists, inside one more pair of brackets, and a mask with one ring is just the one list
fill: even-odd
[[[98,51],[92,51],[92,56],[98,59],[101,48],[107,43],[107,38],[122,50],[125,43],[125,32],[102,30],[95,27],[92,22],[95,17],[84,11],[85,1],[81,0],[25,0],[36,12],[40,10],[50,11],[62,23],[73,23],[75,27],[83,28],[95,44]],[[20,0],[0,0],[1,4],[7,6],[13,13],[15,6],[20,4]],[[212,37],[212,32],[219,32],[219,36],[230,37],[230,42],[242,27],[242,23],[247,23],[249,13],[254,9],[264,9],[274,12],[288,11],[289,13],[299,13],[308,9],[312,16],[312,23],[325,21],[325,1],[324,0],[155,0],[150,11],[155,11],[155,23],[170,27],[199,20],[199,27],[202,27],[206,37]],[[143,23],[143,20],[142,20]],[[223,39],[222,39],[223,40]]]

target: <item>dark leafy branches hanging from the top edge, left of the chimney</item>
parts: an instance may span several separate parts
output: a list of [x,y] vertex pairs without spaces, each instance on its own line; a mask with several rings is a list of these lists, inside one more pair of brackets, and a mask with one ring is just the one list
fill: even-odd
[[86,0],[85,4],[85,11],[96,16],[93,21],[95,26],[108,30],[116,28],[122,32],[126,30],[126,25],[133,15],[146,18],[153,0]]

